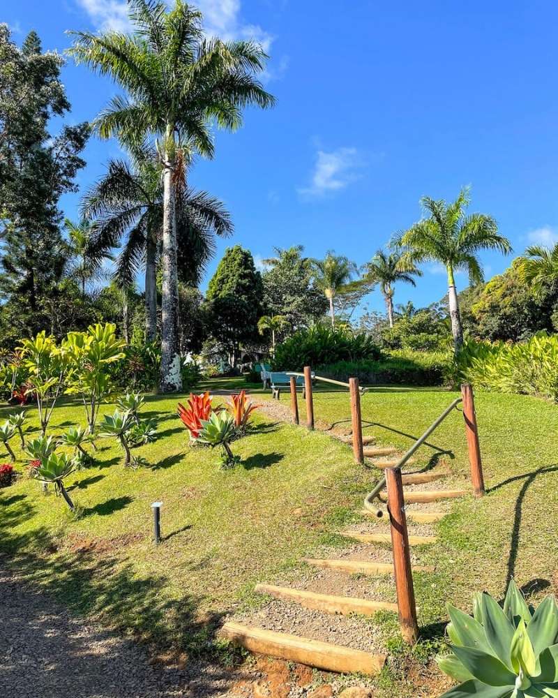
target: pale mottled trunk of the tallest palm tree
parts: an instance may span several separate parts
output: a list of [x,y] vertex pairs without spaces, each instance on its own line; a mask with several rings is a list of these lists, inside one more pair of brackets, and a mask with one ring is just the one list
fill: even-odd
[[[172,131],[167,130],[167,139]],[[174,158],[165,156],[163,173],[163,294],[161,322],[160,392],[182,389],[179,352],[179,280],[176,260],[176,192],[172,181]]]

